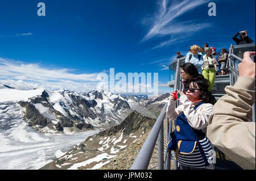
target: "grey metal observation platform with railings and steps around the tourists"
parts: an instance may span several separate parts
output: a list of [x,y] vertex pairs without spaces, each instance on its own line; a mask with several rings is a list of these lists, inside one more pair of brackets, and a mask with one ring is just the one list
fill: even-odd
[[[237,65],[243,59],[243,53],[247,51],[255,51],[255,43],[243,45],[230,45],[228,61],[226,68],[229,70],[229,75],[217,75],[216,81],[213,85],[213,96],[218,100],[225,95],[224,88],[228,85],[233,86],[238,78]],[[182,90],[180,65],[185,62],[185,57],[178,58],[170,62],[169,65],[169,79],[167,85],[173,87],[174,90]],[[160,86],[160,85],[159,85]],[[180,103],[177,101],[176,107]],[[154,127],[144,142],[139,151],[131,170],[178,170],[177,161],[175,159],[175,152],[166,148],[174,128],[176,128],[176,120],[170,120],[166,117],[167,103],[164,105],[162,112],[156,120]],[[255,122],[255,103],[252,106],[253,117],[251,121]],[[213,145],[214,146],[214,145]],[[229,159],[222,151],[214,146],[216,154],[216,163],[214,164],[216,170],[238,170],[241,169],[236,163]]]

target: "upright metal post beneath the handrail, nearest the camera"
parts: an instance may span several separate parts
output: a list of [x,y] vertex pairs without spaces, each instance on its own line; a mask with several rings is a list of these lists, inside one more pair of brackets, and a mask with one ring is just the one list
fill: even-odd
[[164,153],[163,153],[163,121],[158,134],[158,170],[164,169]]

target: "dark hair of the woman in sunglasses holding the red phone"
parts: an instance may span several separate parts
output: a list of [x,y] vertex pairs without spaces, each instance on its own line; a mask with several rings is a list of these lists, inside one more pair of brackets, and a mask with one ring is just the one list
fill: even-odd
[[189,89],[189,85],[191,85],[191,83],[192,83],[193,86],[197,85],[201,91],[204,91],[203,95],[201,95],[201,99],[203,99],[204,103],[214,104],[214,102],[215,102],[214,101],[214,96],[208,90],[209,82],[208,82],[207,79],[205,79],[204,77],[199,77],[197,79],[192,79],[191,81],[188,82],[185,89]]

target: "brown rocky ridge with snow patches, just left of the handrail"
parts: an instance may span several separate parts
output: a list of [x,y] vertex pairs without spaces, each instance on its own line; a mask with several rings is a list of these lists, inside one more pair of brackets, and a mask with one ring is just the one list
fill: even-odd
[[[100,169],[138,140],[142,145],[141,138],[146,138],[154,123],[155,119],[133,111],[121,124],[88,137],[82,144],[42,169]],[[129,156],[134,159],[134,155]]]

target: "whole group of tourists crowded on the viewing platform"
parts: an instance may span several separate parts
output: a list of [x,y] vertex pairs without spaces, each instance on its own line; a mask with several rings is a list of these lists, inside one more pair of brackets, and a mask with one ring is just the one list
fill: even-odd
[[[241,39],[236,38],[238,34],[233,37],[237,44],[252,42],[246,31],[240,33]],[[182,57],[180,52],[177,55]],[[220,74],[225,75],[228,52],[222,49],[216,55],[209,44],[193,45],[186,55],[180,67],[184,90],[177,90],[179,98],[172,93],[168,99],[167,117],[176,120],[176,128],[167,147],[176,151],[181,170],[214,169],[213,145],[243,169],[255,169],[255,123],[248,121],[255,102],[255,62],[251,59],[255,52],[245,52],[238,65],[240,77],[234,86],[225,88],[227,95],[217,103],[211,92],[217,62]],[[175,108],[177,99],[180,106]]]

